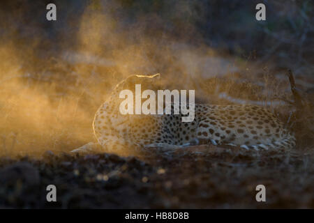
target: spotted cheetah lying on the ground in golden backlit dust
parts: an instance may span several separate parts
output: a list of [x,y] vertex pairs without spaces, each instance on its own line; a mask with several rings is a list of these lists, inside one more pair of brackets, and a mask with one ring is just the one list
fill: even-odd
[[[182,122],[181,114],[120,114],[119,92],[135,89],[156,91],[160,75],[132,75],[117,84],[94,117],[94,134],[109,153],[130,147],[214,144],[246,150],[293,148],[294,135],[274,114],[255,105],[195,104],[195,118]],[[132,90],[131,90],[132,91]]]

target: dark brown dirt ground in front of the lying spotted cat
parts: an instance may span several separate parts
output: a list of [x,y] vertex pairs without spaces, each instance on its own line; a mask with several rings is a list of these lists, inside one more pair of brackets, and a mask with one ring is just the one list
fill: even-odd
[[[195,151],[196,150],[196,151]],[[149,157],[1,158],[1,208],[314,208],[313,153],[198,146]],[[56,185],[57,202],[46,201]],[[257,202],[257,185],[266,202]]]

